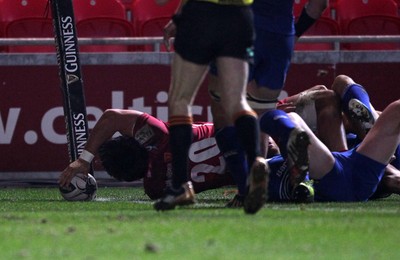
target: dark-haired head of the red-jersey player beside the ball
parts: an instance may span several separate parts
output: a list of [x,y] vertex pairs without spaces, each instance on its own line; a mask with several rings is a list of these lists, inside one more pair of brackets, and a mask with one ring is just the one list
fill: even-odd
[[148,153],[133,137],[119,136],[99,148],[104,169],[117,180],[135,181],[148,170]]

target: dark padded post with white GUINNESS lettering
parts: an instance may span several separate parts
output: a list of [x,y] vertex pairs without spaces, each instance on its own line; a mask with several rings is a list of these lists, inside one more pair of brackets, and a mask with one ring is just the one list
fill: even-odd
[[50,0],[50,4],[60,69],[68,153],[70,161],[74,161],[85,148],[89,135],[74,10],[72,0]]

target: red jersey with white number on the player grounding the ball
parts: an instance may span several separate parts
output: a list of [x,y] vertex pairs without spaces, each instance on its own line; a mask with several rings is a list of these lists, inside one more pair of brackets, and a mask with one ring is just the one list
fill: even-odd
[[[225,161],[213,134],[213,124],[193,124],[189,167],[190,180],[197,193],[234,184],[225,171]],[[149,171],[143,179],[145,193],[151,199],[160,198],[172,177],[168,124],[143,114],[136,121],[133,136],[149,152]]]

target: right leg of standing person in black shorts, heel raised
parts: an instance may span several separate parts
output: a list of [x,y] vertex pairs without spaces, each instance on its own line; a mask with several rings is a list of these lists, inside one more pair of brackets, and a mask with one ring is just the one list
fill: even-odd
[[244,60],[230,57],[217,59],[221,105],[234,123],[240,145],[246,152],[250,169],[249,193],[245,211],[256,213],[266,202],[268,169],[260,157],[260,139],[257,116],[245,98],[248,66]]

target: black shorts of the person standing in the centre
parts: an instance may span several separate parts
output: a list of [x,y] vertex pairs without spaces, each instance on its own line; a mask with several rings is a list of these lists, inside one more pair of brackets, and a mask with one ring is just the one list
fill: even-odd
[[246,60],[254,40],[253,16],[248,6],[188,1],[179,16],[174,48],[183,59],[209,64],[218,57]]

